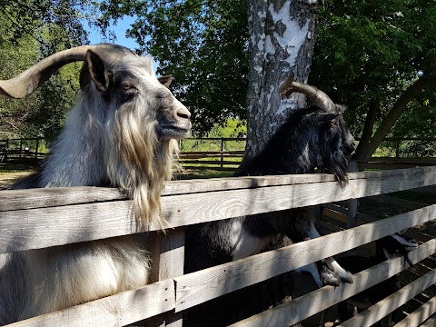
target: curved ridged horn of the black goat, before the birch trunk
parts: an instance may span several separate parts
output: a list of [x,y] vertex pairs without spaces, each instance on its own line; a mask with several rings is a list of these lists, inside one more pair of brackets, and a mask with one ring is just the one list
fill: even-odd
[[288,97],[293,92],[299,92],[306,95],[317,107],[325,112],[335,112],[335,105],[327,94],[323,93],[315,86],[294,82],[293,73],[291,73],[286,81],[280,86],[280,93]]

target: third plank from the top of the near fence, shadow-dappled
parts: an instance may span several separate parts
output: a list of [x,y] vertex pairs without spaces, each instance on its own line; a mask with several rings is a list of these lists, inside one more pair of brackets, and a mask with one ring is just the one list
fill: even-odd
[[[436,252],[436,240],[421,244],[418,249],[409,253],[411,263],[418,263],[422,259]],[[271,310],[253,315],[232,327],[263,327],[289,326],[322,312],[332,305],[348,299],[352,295],[362,292],[383,280],[388,279],[407,268],[403,257],[391,259],[372,268],[353,275],[354,282],[342,283],[339,287],[324,286],[319,290],[302,295],[291,302],[278,305]]]

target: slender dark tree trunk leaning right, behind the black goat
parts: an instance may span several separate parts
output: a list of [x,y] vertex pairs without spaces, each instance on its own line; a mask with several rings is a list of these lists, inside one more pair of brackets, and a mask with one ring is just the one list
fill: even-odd
[[374,133],[369,143],[362,144],[360,151],[356,152],[354,158],[357,160],[368,161],[377,147],[381,144],[386,135],[391,131],[393,124],[398,120],[401,114],[413,99],[415,99],[422,90],[425,89],[430,83],[430,79],[425,75],[418,78],[418,80],[411,84],[403,94],[398,98],[395,104],[393,104],[391,111],[382,120],[379,129]]

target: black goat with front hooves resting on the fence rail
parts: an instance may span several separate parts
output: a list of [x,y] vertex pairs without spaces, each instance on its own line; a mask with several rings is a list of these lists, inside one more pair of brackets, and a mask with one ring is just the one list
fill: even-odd
[[[334,173],[340,183],[347,182],[347,156],[355,149],[354,139],[342,119],[344,107],[333,104],[320,90],[307,84],[283,84],[284,96],[292,92],[306,94],[316,106],[294,111],[285,124],[272,136],[263,151],[244,161],[234,176],[314,173],[315,169]],[[283,243],[284,239],[301,242],[319,237],[312,222],[312,208],[298,208],[274,213],[243,216],[230,220],[193,225],[186,231],[185,272],[194,272],[213,265],[238,260],[260,253],[266,246]],[[332,258],[325,260],[329,268],[313,271],[315,264],[306,267],[316,282],[338,285],[352,282],[346,272]],[[304,270],[304,269],[302,269]],[[228,304],[228,303],[226,303]],[[212,308],[214,312],[220,312]],[[186,322],[203,325],[201,309],[188,313]],[[211,318],[204,315],[207,325],[221,326],[223,312]]]

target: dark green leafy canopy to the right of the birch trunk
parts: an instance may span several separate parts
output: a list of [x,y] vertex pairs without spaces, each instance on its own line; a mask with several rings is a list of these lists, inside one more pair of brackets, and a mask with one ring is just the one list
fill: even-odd
[[[380,104],[376,128],[408,86],[421,76],[431,79],[436,62],[435,5],[432,0],[330,0],[322,8],[311,83],[349,106],[349,121],[357,134],[362,134],[372,104]],[[430,81],[423,88],[426,92],[413,97],[391,134],[422,135],[422,124],[434,114],[435,85]],[[421,123],[402,124],[411,120]]]

